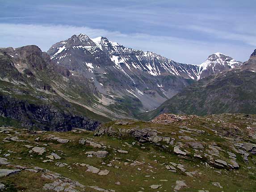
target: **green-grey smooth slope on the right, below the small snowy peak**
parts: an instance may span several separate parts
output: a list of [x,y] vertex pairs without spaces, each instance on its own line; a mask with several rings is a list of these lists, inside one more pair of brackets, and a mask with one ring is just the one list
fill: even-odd
[[229,71],[201,79],[165,101],[159,108],[140,114],[150,120],[160,113],[221,114],[256,113],[256,74],[251,71]]

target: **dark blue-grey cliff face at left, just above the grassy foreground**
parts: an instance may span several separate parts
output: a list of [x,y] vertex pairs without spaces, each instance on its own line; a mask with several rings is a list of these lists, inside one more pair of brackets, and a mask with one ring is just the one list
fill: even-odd
[[22,122],[22,126],[34,126],[47,131],[70,131],[72,128],[94,130],[99,122],[83,116],[61,112],[50,104],[29,104],[26,100],[0,96],[0,116]]

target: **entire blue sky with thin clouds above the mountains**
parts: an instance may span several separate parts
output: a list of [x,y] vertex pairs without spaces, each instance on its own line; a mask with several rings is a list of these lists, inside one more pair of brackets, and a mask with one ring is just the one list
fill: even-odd
[[73,34],[104,36],[180,63],[256,49],[254,0],[0,0],[0,47],[46,51]]

